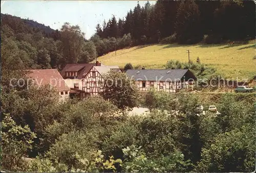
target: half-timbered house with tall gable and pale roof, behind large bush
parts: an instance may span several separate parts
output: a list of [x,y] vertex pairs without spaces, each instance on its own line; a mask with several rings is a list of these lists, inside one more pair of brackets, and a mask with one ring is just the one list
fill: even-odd
[[82,80],[85,97],[97,96],[103,92],[102,75],[111,70],[121,72],[118,66],[93,66]]

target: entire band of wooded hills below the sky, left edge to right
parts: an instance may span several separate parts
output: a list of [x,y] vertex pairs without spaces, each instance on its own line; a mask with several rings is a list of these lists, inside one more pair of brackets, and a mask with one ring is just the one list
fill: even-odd
[[95,35],[86,40],[79,26],[65,24],[52,30],[33,20],[1,14],[1,44],[8,43],[2,54],[20,52],[17,61],[26,69],[61,69],[66,63],[90,62],[129,46],[246,43],[255,36],[254,18],[251,1],[158,1],[144,7],[138,4],[125,18],[113,16],[102,27],[98,24]]

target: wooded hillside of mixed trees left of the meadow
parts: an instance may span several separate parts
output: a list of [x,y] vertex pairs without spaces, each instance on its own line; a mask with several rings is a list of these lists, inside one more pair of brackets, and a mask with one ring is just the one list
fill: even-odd
[[63,24],[53,30],[33,20],[1,14],[2,72],[5,69],[61,70],[66,63],[90,62],[96,48],[87,41],[79,26]]

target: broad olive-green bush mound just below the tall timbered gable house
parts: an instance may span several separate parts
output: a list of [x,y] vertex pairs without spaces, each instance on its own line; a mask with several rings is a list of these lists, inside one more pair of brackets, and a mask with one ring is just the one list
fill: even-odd
[[50,145],[54,144],[62,134],[68,134],[70,129],[88,131],[97,128],[100,131],[101,126],[103,128],[114,125],[122,120],[122,117],[114,116],[118,111],[120,110],[115,105],[101,97],[87,98],[70,106],[59,121],[49,124],[44,131],[44,136]]

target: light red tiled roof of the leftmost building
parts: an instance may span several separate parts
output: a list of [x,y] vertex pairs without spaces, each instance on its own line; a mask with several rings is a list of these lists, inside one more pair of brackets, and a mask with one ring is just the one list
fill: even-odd
[[[59,91],[69,91],[70,88],[68,87],[65,80],[61,77],[57,69],[44,69],[44,70],[28,70],[31,73],[28,74],[30,78],[36,80],[36,83],[41,85],[50,84],[55,89]],[[39,87],[40,87],[39,86]]]

